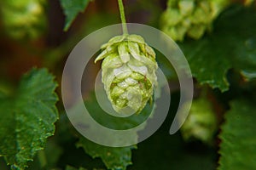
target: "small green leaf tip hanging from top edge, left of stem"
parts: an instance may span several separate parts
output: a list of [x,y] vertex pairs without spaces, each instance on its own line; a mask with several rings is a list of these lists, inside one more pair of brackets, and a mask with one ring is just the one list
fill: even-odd
[[64,31],[67,31],[73,20],[80,12],[83,12],[90,0],[61,0],[61,7],[66,15]]

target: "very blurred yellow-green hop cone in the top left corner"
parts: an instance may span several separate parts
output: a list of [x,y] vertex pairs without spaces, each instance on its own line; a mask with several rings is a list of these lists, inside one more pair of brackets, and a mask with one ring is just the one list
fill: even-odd
[[47,26],[45,0],[6,0],[0,2],[0,15],[6,34],[14,39],[36,39]]

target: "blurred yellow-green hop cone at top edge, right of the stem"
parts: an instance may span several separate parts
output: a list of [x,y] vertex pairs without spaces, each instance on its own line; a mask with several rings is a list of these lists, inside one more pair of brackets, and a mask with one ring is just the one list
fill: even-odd
[[175,41],[187,35],[199,39],[230,0],[169,0],[161,17],[161,29]]

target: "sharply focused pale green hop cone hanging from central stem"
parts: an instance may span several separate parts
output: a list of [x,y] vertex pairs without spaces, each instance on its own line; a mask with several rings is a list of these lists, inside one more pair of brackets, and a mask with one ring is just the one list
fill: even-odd
[[117,36],[102,45],[95,62],[101,59],[102,82],[113,109],[119,113],[142,111],[157,83],[154,49],[143,37]]

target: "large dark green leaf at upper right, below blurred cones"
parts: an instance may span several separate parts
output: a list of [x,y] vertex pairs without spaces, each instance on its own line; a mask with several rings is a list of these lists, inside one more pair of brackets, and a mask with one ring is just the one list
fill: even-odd
[[256,72],[255,20],[255,8],[235,6],[220,15],[211,35],[181,44],[193,76],[201,84],[226,91],[226,74],[231,68]]

